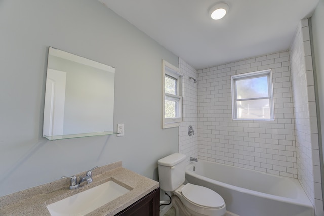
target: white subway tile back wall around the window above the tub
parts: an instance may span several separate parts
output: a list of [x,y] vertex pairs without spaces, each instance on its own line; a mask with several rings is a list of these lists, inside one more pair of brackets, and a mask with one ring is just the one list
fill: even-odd
[[[233,121],[231,75],[272,70],[275,121]],[[297,178],[289,51],[198,70],[200,159]]]

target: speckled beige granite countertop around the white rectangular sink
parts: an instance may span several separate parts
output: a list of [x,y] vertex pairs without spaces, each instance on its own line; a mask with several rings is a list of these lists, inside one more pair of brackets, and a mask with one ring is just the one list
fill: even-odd
[[73,190],[69,190],[70,179],[67,178],[0,197],[0,215],[50,215],[47,205],[110,180],[130,191],[87,215],[115,215],[159,188],[158,182],[121,167],[120,161],[93,170],[92,176],[92,183]]

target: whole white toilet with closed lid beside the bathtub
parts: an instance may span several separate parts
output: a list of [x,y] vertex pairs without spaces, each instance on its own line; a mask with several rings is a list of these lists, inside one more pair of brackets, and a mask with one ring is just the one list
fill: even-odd
[[185,182],[186,155],[174,153],[161,158],[158,163],[160,188],[170,191],[176,216],[224,216],[224,199],[215,191]]

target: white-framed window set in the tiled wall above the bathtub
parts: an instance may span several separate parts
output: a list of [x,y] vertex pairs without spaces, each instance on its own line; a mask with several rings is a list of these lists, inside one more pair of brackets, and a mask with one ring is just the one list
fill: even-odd
[[274,120],[271,70],[234,75],[233,120]]

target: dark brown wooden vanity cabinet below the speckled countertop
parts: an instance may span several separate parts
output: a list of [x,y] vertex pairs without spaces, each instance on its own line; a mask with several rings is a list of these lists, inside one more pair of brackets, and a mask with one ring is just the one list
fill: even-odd
[[117,213],[118,216],[158,216],[160,204],[160,188],[155,189],[142,199],[133,203],[123,211]]

